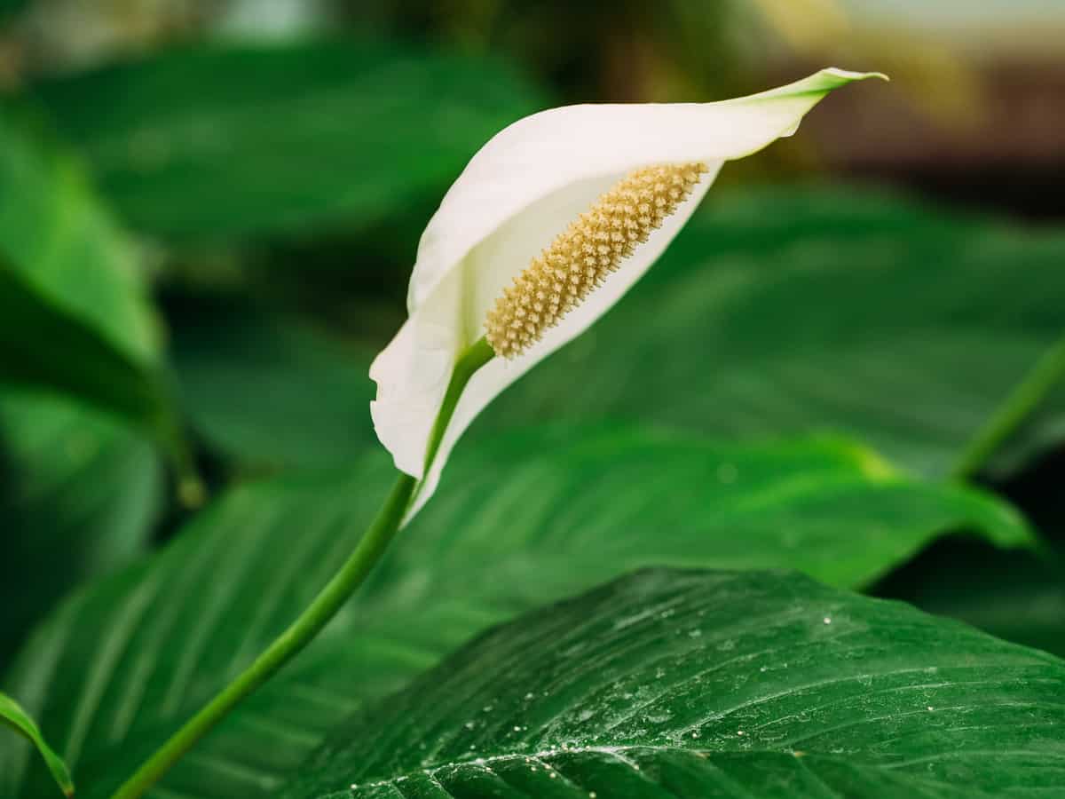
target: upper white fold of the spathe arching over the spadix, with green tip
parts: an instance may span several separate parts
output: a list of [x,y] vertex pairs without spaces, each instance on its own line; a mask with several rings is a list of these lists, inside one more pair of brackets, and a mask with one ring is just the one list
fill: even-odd
[[407,310],[413,312],[470,249],[530,202],[580,180],[649,164],[750,156],[791,135],[833,88],[869,77],[824,69],[722,102],[567,105],[518,120],[473,157],[444,195],[419,245]]

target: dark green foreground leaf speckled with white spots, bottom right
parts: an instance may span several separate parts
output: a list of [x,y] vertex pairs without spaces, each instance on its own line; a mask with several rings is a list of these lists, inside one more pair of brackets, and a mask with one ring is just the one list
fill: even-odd
[[771,572],[650,571],[492,631],[281,796],[1045,797],[1065,663]]

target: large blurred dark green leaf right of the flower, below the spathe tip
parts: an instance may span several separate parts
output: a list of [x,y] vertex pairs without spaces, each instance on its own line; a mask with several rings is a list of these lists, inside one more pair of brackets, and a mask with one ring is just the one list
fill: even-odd
[[[1061,338],[1063,261],[1062,232],[890,196],[711,193],[632,296],[477,429],[603,415],[739,439],[830,429],[945,475]],[[1061,441],[1065,404],[1033,422],[1004,461]]]

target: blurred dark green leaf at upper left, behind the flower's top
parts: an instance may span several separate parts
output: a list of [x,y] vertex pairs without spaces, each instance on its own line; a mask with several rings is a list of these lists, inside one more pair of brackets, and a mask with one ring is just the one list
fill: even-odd
[[367,38],[190,47],[36,88],[126,218],[181,241],[376,224],[543,105],[494,59]]

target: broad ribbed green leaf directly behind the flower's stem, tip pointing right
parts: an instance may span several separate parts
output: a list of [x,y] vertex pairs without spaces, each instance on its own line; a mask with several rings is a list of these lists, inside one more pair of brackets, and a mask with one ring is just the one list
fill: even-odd
[[[105,796],[306,605],[383,496],[386,460],[243,486],[38,629],[5,686],[65,731],[56,744],[87,796]],[[850,444],[554,427],[463,447],[353,607],[158,796],[261,793],[361,701],[489,624],[628,569],[793,566],[861,585],[962,527],[1027,540],[996,500],[895,474]],[[34,769],[27,751],[0,749],[0,797],[35,796]]]

